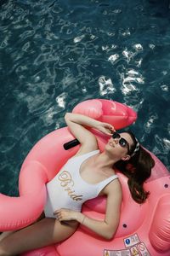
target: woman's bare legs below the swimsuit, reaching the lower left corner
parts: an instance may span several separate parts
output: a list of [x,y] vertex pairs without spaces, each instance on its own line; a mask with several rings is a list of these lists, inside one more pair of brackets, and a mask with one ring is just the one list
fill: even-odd
[[43,218],[0,241],[0,255],[17,255],[63,241],[77,230],[78,223],[61,224],[55,218]]

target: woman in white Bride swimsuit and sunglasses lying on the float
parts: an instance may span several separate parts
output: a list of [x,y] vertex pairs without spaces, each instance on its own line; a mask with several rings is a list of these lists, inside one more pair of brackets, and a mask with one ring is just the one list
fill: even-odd
[[[116,233],[122,204],[122,188],[113,166],[127,175],[135,201],[142,203],[148,196],[143,183],[150,177],[154,161],[132,133],[119,134],[110,124],[76,113],[66,113],[65,121],[81,147],[47,184],[46,218],[2,236],[0,255],[16,255],[63,241],[77,230],[78,224],[110,240]],[[99,152],[96,137],[87,126],[110,136],[104,152]],[[53,193],[60,200],[53,200]],[[82,203],[98,195],[107,197],[104,220],[88,218],[81,212]]]

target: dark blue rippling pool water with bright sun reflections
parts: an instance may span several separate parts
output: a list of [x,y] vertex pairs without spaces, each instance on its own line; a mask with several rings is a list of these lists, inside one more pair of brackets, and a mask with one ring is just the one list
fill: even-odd
[[170,6],[166,0],[0,3],[0,192],[18,194],[32,146],[92,98],[132,107],[132,130],[170,167]]

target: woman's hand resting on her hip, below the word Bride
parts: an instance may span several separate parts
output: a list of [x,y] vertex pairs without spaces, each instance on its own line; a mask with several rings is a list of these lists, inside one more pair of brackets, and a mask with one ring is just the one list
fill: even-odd
[[78,221],[78,217],[80,217],[79,215],[82,215],[81,212],[77,212],[77,211],[72,211],[70,209],[65,209],[65,208],[61,208],[57,211],[54,212],[54,216],[56,216],[56,218],[59,221],[68,221],[68,220],[77,220]]

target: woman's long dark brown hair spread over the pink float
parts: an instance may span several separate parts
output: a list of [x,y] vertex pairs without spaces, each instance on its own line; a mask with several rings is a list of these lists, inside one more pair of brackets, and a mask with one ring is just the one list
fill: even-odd
[[[150,195],[149,191],[145,191],[144,181],[150,177],[151,169],[155,166],[155,161],[152,159],[150,153],[142,148],[137,139],[134,137],[132,131],[126,131],[133,140],[133,145],[129,148],[128,154],[131,155],[129,160],[120,160],[116,162],[115,166],[125,176],[127,176],[127,184],[133,200],[141,204]],[[135,149],[139,149],[135,152]],[[135,153],[134,153],[135,152]],[[134,154],[133,154],[134,153]]]

